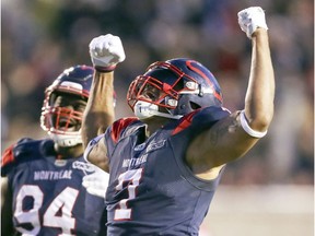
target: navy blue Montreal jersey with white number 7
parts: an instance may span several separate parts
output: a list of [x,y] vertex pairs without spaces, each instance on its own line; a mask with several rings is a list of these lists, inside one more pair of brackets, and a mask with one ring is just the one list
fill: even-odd
[[137,118],[117,120],[105,133],[109,157],[107,235],[198,235],[218,186],[185,164],[191,140],[230,113],[208,107],[145,139]]

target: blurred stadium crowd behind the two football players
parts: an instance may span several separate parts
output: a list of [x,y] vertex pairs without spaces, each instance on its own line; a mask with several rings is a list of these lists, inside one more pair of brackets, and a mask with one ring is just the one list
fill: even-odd
[[237,12],[267,15],[277,93],[273,122],[256,149],[231,163],[222,184],[314,184],[313,0],[2,0],[1,151],[20,138],[43,138],[45,88],[74,64],[91,64],[89,43],[112,33],[127,58],[115,71],[117,118],[129,82],[156,61],[194,58],[221,84],[224,106],[244,106],[250,40]]

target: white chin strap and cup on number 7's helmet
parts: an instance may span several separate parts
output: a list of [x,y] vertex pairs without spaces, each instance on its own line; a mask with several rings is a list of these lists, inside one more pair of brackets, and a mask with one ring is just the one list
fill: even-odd
[[174,116],[172,114],[161,113],[159,111],[158,105],[144,101],[138,101],[136,103],[133,113],[139,119],[148,119],[152,116],[165,117],[171,119],[180,119],[183,117],[182,115]]

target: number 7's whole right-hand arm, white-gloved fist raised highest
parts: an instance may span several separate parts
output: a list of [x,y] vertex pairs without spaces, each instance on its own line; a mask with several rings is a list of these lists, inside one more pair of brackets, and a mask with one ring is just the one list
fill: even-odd
[[238,23],[253,45],[245,108],[198,135],[186,155],[192,172],[206,179],[252,149],[266,134],[273,116],[275,75],[265,13],[258,7],[245,9],[238,13]]

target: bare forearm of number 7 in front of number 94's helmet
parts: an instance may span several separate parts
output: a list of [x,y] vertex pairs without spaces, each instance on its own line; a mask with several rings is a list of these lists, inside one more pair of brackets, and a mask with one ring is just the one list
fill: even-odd
[[95,71],[82,120],[84,148],[93,138],[103,133],[114,119],[114,72]]

